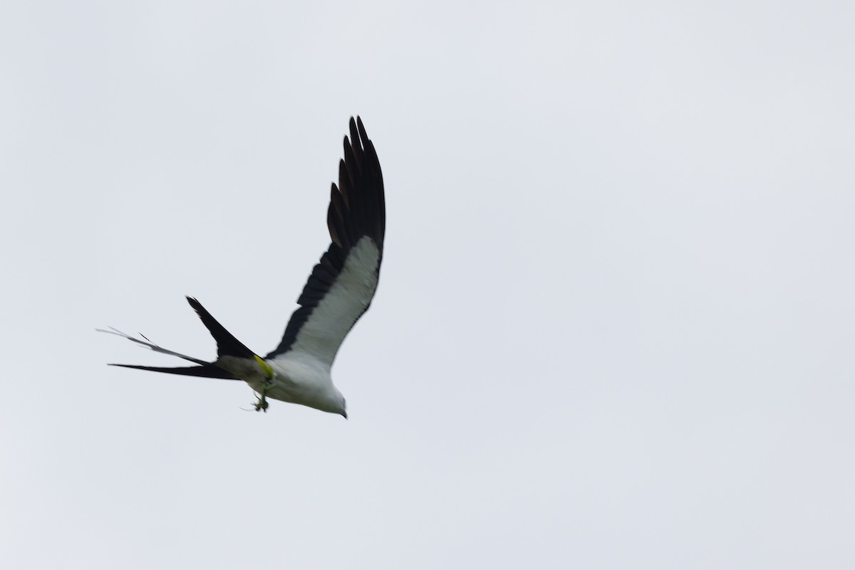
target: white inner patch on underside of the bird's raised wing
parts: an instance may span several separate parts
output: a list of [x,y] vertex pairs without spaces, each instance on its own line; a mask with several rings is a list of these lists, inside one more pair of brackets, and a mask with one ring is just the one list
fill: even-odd
[[377,279],[380,250],[368,236],[357,241],[347,254],[335,283],[300,327],[297,338],[273,361],[314,361],[333,367],[339,346],[359,317],[369,308]]

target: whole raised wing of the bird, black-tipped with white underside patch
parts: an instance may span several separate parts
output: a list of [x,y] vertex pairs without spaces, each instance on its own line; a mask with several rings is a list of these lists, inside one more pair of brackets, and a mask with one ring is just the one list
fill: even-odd
[[333,243],[312,269],[282,341],[266,358],[309,357],[332,367],[377,289],[386,233],[383,174],[363,121],[351,117],[350,126],[327,210]]

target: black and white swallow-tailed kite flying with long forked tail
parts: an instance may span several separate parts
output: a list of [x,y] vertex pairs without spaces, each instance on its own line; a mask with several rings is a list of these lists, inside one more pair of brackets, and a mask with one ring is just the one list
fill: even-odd
[[333,183],[327,209],[332,243],[312,269],[298,297],[299,307],[291,315],[279,346],[267,356],[257,355],[234,338],[202,303],[187,297],[187,303],[196,310],[216,341],[215,361],[182,355],[148,338],[140,340],[112,329],[102,332],[120,335],[156,352],[178,356],[193,362],[194,366],[110,366],[244,380],[257,393],[256,411],[266,412],[268,398],[272,398],[346,418],[345,397],[333,385],[330,373],[341,343],[374,298],[386,233],[383,175],[374,144],[359,117],[357,120],[351,117],[350,130],[350,139],[345,136],[345,158],[339,162],[339,185]]

